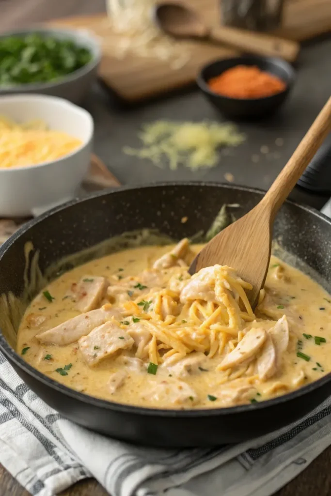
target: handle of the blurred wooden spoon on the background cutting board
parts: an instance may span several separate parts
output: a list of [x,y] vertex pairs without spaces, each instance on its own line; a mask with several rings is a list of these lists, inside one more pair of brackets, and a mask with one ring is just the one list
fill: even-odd
[[289,62],[295,61],[300,50],[299,43],[295,41],[224,26],[213,28],[209,38],[244,52],[268,57],[281,57]]

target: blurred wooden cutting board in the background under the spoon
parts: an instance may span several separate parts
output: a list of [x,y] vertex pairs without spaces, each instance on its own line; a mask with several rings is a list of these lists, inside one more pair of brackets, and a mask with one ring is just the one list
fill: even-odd
[[[188,0],[207,23],[219,23],[218,0]],[[170,68],[168,62],[127,56],[118,60],[112,47],[118,40],[112,33],[105,14],[71,17],[51,23],[53,26],[87,29],[102,41],[104,57],[100,77],[113,91],[127,101],[138,101],[170,91],[195,80],[199,67],[219,57],[230,57],[236,52],[224,46],[213,46],[197,41],[178,41],[186,44],[194,56],[181,69]],[[276,34],[297,41],[305,40],[331,30],[331,0],[287,0],[284,21]]]

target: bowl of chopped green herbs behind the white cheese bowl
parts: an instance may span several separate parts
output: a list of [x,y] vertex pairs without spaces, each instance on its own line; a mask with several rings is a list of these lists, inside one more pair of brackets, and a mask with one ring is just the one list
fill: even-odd
[[0,95],[43,93],[79,103],[97,77],[98,42],[82,31],[29,29],[0,35]]

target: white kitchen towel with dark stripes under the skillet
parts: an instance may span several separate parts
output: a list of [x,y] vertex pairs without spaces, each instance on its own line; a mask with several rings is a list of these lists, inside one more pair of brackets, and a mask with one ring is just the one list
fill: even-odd
[[331,399],[295,424],[241,444],[133,446],[62,418],[0,354],[0,463],[34,496],[56,495],[91,476],[112,496],[269,496],[330,444]]

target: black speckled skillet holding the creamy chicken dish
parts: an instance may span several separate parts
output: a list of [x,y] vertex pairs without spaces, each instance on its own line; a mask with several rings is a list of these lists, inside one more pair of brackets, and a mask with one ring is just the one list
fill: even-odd
[[[54,261],[124,231],[157,228],[174,239],[190,237],[209,227],[223,203],[239,203],[236,215],[240,216],[256,205],[262,194],[245,187],[181,183],[121,188],[74,200],[32,220],[0,248],[0,294],[22,293],[24,245],[28,241],[40,250],[39,265],[45,271]],[[186,223],[183,217],[188,217]],[[327,217],[287,201],[277,216],[274,235],[281,236],[286,251],[330,281],[331,221]],[[324,286],[330,289],[327,282]],[[260,404],[192,411],[139,408],[93,398],[53,381],[24,362],[3,334],[0,349],[28,386],[66,418],[100,433],[155,446],[242,441],[299,419],[331,394],[328,374]]]

